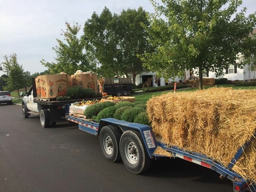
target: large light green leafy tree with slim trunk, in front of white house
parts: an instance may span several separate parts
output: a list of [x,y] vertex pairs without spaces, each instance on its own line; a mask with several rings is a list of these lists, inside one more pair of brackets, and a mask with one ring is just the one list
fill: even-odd
[[150,15],[147,31],[155,50],[142,55],[144,66],[159,76],[172,77],[197,69],[200,89],[203,72],[219,76],[236,64],[244,39],[256,23],[255,14],[245,17],[245,8],[235,14],[242,0],[151,2],[156,13]]

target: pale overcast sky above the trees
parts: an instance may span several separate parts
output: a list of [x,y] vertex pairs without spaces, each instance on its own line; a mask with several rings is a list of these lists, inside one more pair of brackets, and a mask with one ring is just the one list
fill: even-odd
[[[256,11],[256,0],[243,0],[240,7],[247,7],[247,14]],[[85,21],[104,6],[113,13],[142,6],[154,12],[149,0],[0,0],[0,63],[4,55],[17,54],[18,63],[25,71],[41,72],[46,68],[41,59],[54,61],[61,29],[65,22],[78,22],[81,32]],[[0,71],[0,76],[2,75]]]

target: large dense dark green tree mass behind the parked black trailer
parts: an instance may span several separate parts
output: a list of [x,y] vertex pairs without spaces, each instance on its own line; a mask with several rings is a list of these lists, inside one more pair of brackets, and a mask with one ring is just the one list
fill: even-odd
[[105,7],[100,16],[94,12],[85,22],[86,50],[100,64],[99,73],[106,77],[132,73],[135,84],[136,75],[145,70],[137,55],[151,50],[141,23],[149,26],[142,7],[123,10],[120,15],[112,15]]

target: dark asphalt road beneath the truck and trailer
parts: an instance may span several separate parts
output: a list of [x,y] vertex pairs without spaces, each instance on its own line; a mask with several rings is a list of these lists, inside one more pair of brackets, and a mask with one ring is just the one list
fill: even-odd
[[42,128],[21,106],[0,105],[0,191],[233,191],[228,179],[181,159],[162,158],[142,175],[108,162],[97,137],[68,122]]

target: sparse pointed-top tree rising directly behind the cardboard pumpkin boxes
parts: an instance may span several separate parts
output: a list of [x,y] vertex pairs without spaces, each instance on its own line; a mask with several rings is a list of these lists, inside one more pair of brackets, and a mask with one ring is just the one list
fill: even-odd
[[41,63],[48,68],[50,74],[65,72],[67,74],[74,74],[76,70],[93,70],[96,66],[89,64],[87,55],[84,50],[85,44],[77,37],[80,31],[80,25],[74,23],[65,23],[66,30],[62,30],[64,42],[57,39],[58,46],[53,47],[56,53],[55,62],[49,63],[42,59]]

